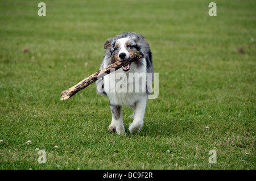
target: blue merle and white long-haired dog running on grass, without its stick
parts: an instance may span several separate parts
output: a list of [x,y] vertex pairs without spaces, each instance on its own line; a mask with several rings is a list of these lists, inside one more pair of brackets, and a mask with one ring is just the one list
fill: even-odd
[[[134,120],[129,126],[129,132],[131,134],[138,133],[143,125],[147,98],[151,92],[152,79],[154,77],[150,47],[142,35],[135,32],[124,32],[106,40],[104,49],[106,52],[100,70],[115,61],[127,60],[131,53],[137,52],[142,55],[142,58],[138,61],[131,62],[104,77],[98,78],[96,81],[97,93],[106,95],[109,98],[109,106],[112,112],[109,131],[125,134],[122,106],[128,106],[134,109],[134,113],[131,115]],[[122,86],[129,87],[129,91],[121,91],[121,87],[117,86],[119,79],[113,74],[117,75],[118,73],[123,78]],[[136,75],[146,75],[146,82],[142,82],[142,77],[138,79],[138,76],[134,76],[135,73],[137,73]],[[134,91],[135,88],[138,88],[139,91]]]

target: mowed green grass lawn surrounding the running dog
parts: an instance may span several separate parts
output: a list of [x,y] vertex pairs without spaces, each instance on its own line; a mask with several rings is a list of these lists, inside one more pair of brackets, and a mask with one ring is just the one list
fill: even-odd
[[[44,2],[0,1],[0,169],[255,169],[255,1]],[[95,85],[59,98],[126,31],[150,44],[159,96],[135,135],[123,107],[118,136]]]

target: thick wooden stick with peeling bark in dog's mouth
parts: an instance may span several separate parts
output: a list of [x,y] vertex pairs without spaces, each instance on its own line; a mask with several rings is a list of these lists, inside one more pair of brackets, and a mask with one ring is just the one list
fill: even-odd
[[142,58],[142,56],[138,55],[136,53],[130,54],[130,57],[127,60],[116,61],[116,62],[114,62],[114,64],[111,64],[111,65],[107,66],[106,68],[97,71],[96,73],[90,75],[89,77],[87,77],[87,78],[83,79],[82,81],[80,81],[79,83],[77,83],[75,86],[70,87],[67,90],[61,91],[60,100],[66,100],[68,98],[71,98],[73,95],[75,95],[80,90],[85,89],[85,87],[87,87],[91,83],[97,81],[97,78],[100,74],[102,74],[102,73],[109,74],[111,69],[115,69],[115,70],[120,69],[122,66],[130,64],[131,62],[133,62],[135,60],[139,60],[139,58]]

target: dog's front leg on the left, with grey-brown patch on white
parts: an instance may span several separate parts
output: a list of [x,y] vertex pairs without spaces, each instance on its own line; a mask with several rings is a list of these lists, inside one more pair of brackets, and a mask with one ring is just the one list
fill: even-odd
[[110,104],[112,112],[112,121],[109,125],[109,131],[117,132],[118,134],[125,134],[125,127],[123,127],[122,106],[114,106]]

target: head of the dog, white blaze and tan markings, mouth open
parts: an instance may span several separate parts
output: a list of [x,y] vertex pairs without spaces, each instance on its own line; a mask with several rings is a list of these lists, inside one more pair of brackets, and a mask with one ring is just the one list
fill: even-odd
[[[113,64],[116,61],[124,61],[130,57],[131,53],[136,53],[139,51],[139,47],[137,45],[138,38],[135,37],[121,37],[118,39],[110,38],[106,40],[104,44],[104,48],[106,51],[109,51],[111,54],[111,63]],[[123,71],[129,71],[131,68],[131,64],[123,66]]]

